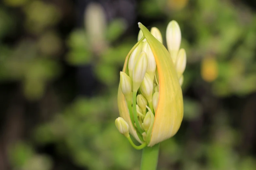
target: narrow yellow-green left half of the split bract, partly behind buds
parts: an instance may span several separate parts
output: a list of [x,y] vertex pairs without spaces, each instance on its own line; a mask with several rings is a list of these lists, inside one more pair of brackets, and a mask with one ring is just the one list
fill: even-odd
[[[124,64],[124,67],[123,67],[123,72],[127,73],[126,72],[126,69],[127,69],[127,64],[128,64],[128,59],[129,59],[129,56],[131,54],[131,52],[137,47],[137,45],[140,43],[140,41],[135,44],[133,46],[133,48],[130,50],[130,52],[128,53],[126,59],[125,59],[125,64]],[[126,104],[126,100],[125,100],[125,96],[124,94],[122,93],[121,91],[121,88],[120,88],[120,83],[119,83],[119,87],[118,87],[118,94],[117,94],[117,103],[118,103],[118,109],[119,109],[119,115],[128,123],[129,125],[129,133],[140,143],[143,143],[137,133],[136,133],[136,130],[134,129],[133,125],[132,125],[132,122],[131,122],[131,119],[130,119],[130,115],[129,115],[129,111],[128,111],[128,107],[127,107],[127,104]]]

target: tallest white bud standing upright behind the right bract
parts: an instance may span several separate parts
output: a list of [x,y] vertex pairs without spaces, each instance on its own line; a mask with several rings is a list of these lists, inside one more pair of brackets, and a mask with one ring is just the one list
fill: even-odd
[[173,20],[169,22],[166,29],[167,49],[171,54],[173,63],[176,62],[176,58],[177,58],[179,47],[180,47],[180,42],[181,42],[181,32],[180,32],[179,24]]

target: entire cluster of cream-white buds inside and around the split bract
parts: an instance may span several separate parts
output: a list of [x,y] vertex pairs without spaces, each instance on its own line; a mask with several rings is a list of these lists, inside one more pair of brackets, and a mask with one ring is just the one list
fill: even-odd
[[[159,29],[153,27],[150,33],[162,43]],[[166,40],[179,84],[182,85],[183,72],[186,67],[186,52],[184,49],[179,49],[181,33],[176,21],[171,21],[168,24]],[[141,142],[149,144],[158,106],[160,84],[154,53],[141,30],[138,35],[137,46],[128,56],[127,67],[128,69],[124,72],[120,72],[120,89],[125,96],[130,120],[138,137]],[[116,127],[121,134],[129,138],[125,120],[118,118]]]

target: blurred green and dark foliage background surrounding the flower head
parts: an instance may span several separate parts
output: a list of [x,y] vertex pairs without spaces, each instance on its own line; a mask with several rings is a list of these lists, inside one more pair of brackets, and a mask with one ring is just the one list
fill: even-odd
[[256,169],[256,2],[2,0],[0,170],[139,170],[114,125],[142,22],[178,21],[184,120],[159,170]]

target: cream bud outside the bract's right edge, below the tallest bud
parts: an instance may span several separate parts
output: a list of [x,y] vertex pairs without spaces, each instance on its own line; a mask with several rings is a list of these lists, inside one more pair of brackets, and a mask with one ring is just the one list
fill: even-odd
[[177,70],[178,78],[180,78],[181,75],[183,74],[186,68],[186,62],[187,62],[186,51],[184,49],[180,49],[178,58],[176,61],[176,70]]

